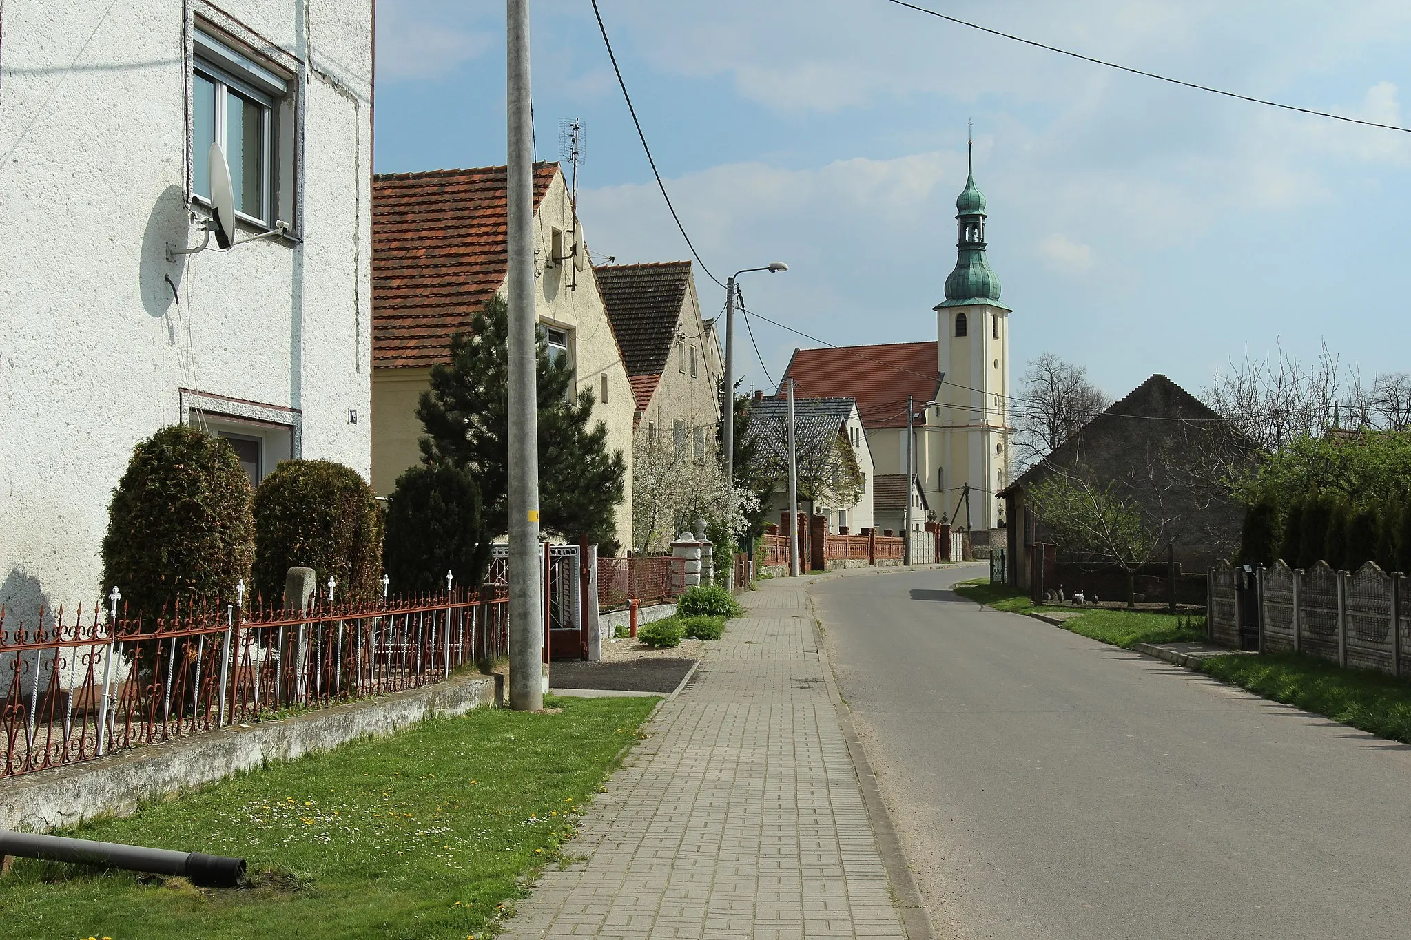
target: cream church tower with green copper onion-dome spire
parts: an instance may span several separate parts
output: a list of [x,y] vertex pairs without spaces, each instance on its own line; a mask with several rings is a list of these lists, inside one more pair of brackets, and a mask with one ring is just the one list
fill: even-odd
[[[969,175],[955,200],[955,269],[935,310],[937,369],[945,381],[937,407],[927,409],[927,433],[917,472],[927,502],[940,516],[969,530],[995,528],[1009,483],[1009,314],[999,302],[999,276],[985,255],[985,194]],[[934,500],[931,493],[935,493]]]

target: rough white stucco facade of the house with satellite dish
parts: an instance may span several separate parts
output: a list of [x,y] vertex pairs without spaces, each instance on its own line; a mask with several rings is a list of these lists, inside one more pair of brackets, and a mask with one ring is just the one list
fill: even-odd
[[[13,612],[106,588],[111,490],[133,445],[166,424],[238,435],[255,476],[291,455],[371,474],[373,6],[6,0],[3,14],[0,603]],[[292,237],[168,261],[209,217],[193,199],[209,141],[192,97],[212,44],[285,89],[268,97],[265,210],[236,237],[275,220]]]

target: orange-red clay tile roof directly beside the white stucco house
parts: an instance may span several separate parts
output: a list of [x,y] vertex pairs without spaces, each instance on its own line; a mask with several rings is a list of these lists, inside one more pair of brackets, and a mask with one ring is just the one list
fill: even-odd
[[[536,211],[557,172],[535,163]],[[373,366],[446,362],[508,271],[504,166],[374,176]]]

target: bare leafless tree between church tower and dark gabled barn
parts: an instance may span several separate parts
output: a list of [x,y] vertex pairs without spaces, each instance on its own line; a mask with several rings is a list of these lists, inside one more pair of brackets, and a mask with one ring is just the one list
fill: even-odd
[[1038,462],[1112,404],[1082,365],[1044,352],[1029,364],[1013,402],[1015,457],[1020,468]]

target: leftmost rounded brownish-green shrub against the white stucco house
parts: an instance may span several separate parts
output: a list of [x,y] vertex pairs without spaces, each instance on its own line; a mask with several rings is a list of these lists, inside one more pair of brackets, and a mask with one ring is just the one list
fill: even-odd
[[250,478],[230,441],[183,424],[133,448],[103,537],[102,595],[116,585],[131,617],[178,603],[233,600],[250,581]]

